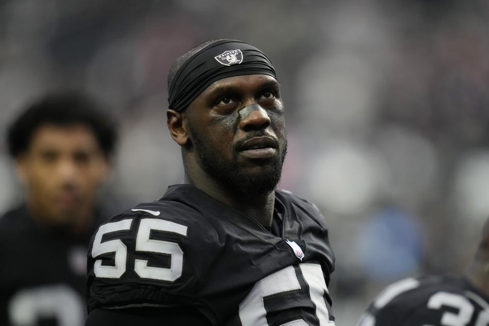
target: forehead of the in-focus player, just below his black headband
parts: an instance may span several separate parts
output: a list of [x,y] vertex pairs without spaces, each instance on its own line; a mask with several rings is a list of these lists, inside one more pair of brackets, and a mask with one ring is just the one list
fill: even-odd
[[214,83],[209,85],[197,98],[201,96],[206,97],[216,91],[227,89],[233,91],[241,90],[243,92],[246,92],[261,89],[263,87],[280,88],[280,85],[274,77],[265,74],[232,76],[216,80]]

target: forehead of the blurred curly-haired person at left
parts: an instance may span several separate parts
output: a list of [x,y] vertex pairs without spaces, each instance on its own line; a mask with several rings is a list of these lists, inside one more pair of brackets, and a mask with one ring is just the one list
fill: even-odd
[[43,124],[32,134],[28,150],[93,149],[98,142],[90,127],[84,124]]

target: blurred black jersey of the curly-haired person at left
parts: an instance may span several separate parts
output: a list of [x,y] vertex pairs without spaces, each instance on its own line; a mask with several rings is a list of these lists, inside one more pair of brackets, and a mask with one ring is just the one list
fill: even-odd
[[0,218],[0,325],[83,325],[86,252],[95,226],[72,239],[21,206]]

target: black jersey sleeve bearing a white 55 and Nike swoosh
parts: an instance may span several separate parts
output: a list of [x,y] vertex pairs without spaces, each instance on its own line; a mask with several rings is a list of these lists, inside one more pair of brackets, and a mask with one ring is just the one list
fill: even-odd
[[219,246],[205,220],[176,204],[116,215],[91,240],[87,309],[186,306],[210,316],[198,292]]

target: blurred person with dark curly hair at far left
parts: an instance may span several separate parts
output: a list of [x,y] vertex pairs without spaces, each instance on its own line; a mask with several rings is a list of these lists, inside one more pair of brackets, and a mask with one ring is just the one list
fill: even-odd
[[112,117],[74,91],[44,95],[10,125],[25,202],[0,218],[0,324],[84,323],[86,251],[116,138]]

